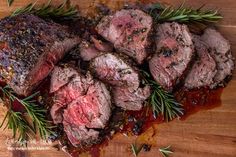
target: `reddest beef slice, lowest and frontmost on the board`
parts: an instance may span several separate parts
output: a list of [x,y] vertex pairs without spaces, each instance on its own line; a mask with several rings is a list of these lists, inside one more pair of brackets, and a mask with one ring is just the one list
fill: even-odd
[[65,128],[70,142],[74,146],[91,140],[96,142],[99,134],[97,129],[106,126],[110,114],[110,93],[103,83],[95,81],[88,88],[86,95],[72,101],[64,110],[63,124],[70,125],[76,131],[76,133],[70,132],[71,128]]

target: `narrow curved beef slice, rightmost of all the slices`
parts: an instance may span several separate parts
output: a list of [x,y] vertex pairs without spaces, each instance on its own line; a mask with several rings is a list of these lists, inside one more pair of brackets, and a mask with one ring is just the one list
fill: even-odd
[[224,80],[232,75],[234,69],[234,58],[230,50],[229,41],[212,28],[206,29],[201,39],[212,49],[210,53],[216,61],[217,73],[211,87],[224,85]]

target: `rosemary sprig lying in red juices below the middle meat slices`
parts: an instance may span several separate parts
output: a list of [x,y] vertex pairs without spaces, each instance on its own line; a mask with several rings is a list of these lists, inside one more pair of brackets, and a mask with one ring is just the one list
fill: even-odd
[[170,121],[183,115],[183,107],[175,100],[173,94],[165,91],[149,73],[143,70],[141,72],[144,76],[144,84],[152,88],[149,104],[152,106],[154,118],[161,114],[166,121]]

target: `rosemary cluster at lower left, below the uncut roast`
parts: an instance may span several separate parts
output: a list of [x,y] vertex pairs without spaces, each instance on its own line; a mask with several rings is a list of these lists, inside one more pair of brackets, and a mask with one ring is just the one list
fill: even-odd
[[[14,138],[18,135],[19,141],[27,140],[32,137],[32,135],[35,135],[37,131],[42,139],[46,139],[54,134],[51,130],[53,126],[46,118],[46,109],[37,105],[36,100],[34,100],[39,92],[32,94],[27,98],[20,99],[9,86],[1,87],[0,90],[3,93],[2,99],[8,108],[0,127],[8,120],[6,127],[12,129]],[[15,101],[19,102],[26,112],[14,111],[13,103]],[[29,121],[29,118],[31,121]]]

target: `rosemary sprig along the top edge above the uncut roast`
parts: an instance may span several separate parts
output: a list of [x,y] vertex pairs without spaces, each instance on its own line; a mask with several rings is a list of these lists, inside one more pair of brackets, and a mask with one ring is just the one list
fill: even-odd
[[30,3],[23,8],[16,9],[11,16],[16,16],[23,13],[35,14],[43,18],[52,18],[59,20],[73,20],[78,18],[78,10],[76,6],[69,5],[66,7],[68,0],[65,0],[64,3],[60,4],[57,7],[51,5],[51,0],[42,6],[36,7],[35,3]]

